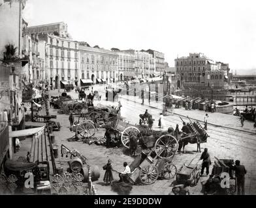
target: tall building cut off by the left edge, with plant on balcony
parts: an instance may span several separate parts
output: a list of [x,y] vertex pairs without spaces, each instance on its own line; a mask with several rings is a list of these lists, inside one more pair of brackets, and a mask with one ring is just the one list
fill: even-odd
[[[14,140],[8,137],[8,131],[24,129],[25,113],[22,105],[22,72],[29,62],[24,49],[24,29],[26,23],[22,18],[25,0],[0,1],[0,60],[1,60],[1,113],[8,112],[1,118],[3,128],[0,132],[0,169],[3,159],[9,155],[12,159]],[[10,23],[11,21],[11,23]],[[3,62],[3,63],[2,63]],[[6,65],[5,65],[6,64]],[[9,99],[9,100],[8,100]],[[3,110],[4,108],[4,111]],[[3,119],[3,120],[2,120]],[[8,154],[7,154],[8,152]]]

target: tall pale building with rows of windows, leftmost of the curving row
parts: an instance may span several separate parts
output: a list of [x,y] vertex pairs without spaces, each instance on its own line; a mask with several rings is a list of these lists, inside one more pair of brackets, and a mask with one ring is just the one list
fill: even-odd
[[56,89],[67,84],[78,86],[79,43],[59,36],[39,34],[39,47],[39,51],[45,51],[42,77],[46,82]]

